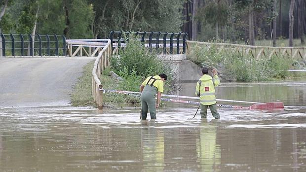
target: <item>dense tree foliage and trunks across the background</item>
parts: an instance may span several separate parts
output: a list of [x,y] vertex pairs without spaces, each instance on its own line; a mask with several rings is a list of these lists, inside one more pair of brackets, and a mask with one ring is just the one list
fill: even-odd
[[290,37],[304,43],[305,11],[305,0],[0,0],[0,31],[67,38],[181,31],[201,41],[254,45]]

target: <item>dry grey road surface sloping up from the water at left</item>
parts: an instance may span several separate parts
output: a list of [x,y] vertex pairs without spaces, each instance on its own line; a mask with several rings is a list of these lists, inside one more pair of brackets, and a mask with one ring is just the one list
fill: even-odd
[[84,65],[94,59],[0,58],[0,107],[69,103]]

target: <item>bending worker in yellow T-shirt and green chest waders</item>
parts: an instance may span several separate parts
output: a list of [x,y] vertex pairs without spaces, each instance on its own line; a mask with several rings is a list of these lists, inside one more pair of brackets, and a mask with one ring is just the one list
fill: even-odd
[[[159,75],[147,77],[140,85],[141,119],[147,119],[148,107],[150,109],[151,119],[156,119],[156,107],[160,104],[161,93],[164,92],[165,80],[167,80],[167,75],[160,73]],[[157,104],[155,104],[156,93]]]

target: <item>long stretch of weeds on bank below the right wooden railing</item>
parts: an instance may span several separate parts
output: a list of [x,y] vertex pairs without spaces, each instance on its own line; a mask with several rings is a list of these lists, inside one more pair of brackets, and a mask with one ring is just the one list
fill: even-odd
[[284,79],[290,76],[287,70],[293,64],[293,60],[287,56],[273,55],[270,59],[255,59],[238,51],[220,52],[216,46],[207,48],[196,45],[190,48],[187,57],[200,66],[217,67],[222,74],[233,81]]

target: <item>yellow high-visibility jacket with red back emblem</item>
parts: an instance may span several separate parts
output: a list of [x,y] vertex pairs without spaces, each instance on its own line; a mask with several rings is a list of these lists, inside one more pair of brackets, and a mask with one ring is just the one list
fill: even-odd
[[196,83],[195,95],[200,97],[200,103],[203,105],[215,104],[215,86],[220,86],[218,75],[214,77],[204,74]]

